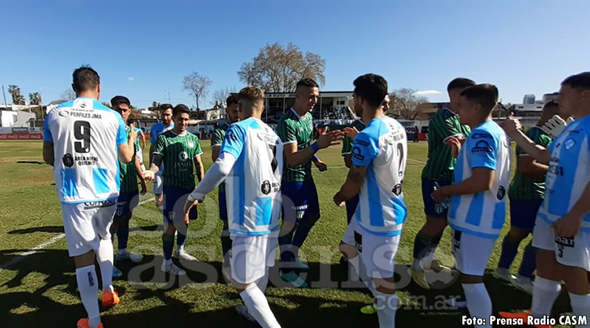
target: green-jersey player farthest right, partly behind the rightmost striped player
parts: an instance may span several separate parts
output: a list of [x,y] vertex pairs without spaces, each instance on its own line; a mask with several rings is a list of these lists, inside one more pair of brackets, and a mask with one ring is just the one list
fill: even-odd
[[[554,115],[559,114],[559,105],[550,101],[543,106],[541,119],[536,126],[530,128],[526,135],[535,144],[547,147],[551,142],[550,135],[543,130],[545,123]],[[567,117],[566,117],[567,119]],[[509,268],[519,251],[519,245],[528,234],[532,233],[534,219],[537,218],[537,211],[543,202],[545,193],[545,173],[549,166],[537,162],[523,151],[516,147],[516,172],[508,189],[510,200],[510,231],[502,242],[502,252],[498,269],[494,271],[494,277],[512,282],[514,286],[526,293],[532,293],[531,277],[537,264],[535,257],[537,249],[532,247],[532,241],[525,247],[523,261],[519,269],[519,276],[515,277],[509,272]]]

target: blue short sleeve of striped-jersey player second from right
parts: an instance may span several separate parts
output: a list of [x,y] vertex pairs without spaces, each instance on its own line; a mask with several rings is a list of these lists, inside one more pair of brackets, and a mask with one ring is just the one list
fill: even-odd
[[498,145],[489,132],[482,130],[473,131],[467,138],[466,146],[467,153],[471,159],[471,169],[485,167],[496,170]]

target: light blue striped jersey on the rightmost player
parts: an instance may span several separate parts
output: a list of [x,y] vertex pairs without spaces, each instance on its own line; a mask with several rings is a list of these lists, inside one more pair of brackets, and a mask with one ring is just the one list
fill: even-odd
[[[590,182],[590,115],[568,124],[548,149],[545,200],[537,216],[553,224],[571,211]],[[590,231],[590,213],[584,215],[580,230]]]

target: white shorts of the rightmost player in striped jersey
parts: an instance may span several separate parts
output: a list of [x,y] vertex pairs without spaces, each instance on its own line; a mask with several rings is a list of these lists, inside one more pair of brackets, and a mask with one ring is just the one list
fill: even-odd
[[559,264],[590,271],[590,232],[580,231],[573,238],[556,237],[551,225],[537,216],[532,245],[541,250],[553,250]]

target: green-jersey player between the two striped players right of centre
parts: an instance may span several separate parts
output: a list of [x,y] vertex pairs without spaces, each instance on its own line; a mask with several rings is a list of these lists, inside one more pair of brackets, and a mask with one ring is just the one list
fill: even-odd
[[430,268],[424,268],[422,262],[427,262],[435,252],[446,227],[448,209],[437,204],[430,198],[430,193],[439,186],[447,186],[453,180],[455,157],[450,155],[447,145],[451,137],[465,138],[469,135],[469,127],[464,126],[457,116],[457,105],[461,92],[467,87],[475,85],[469,78],[455,78],[447,86],[449,103],[435,113],[428,123],[428,159],[422,170],[422,200],[426,222],[414,238],[414,261],[410,267],[410,275],[414,282],[422,288],[429,289],[424,270],[448,270],[432,261]]

